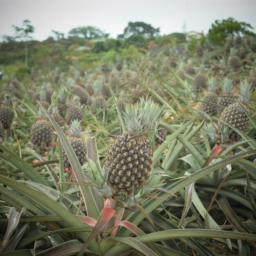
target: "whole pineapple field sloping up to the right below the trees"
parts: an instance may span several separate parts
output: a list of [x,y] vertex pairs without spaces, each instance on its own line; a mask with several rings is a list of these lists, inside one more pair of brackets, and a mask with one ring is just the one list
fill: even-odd
[[256,38],[161,44],[8,66],[0,255],[256,255]]

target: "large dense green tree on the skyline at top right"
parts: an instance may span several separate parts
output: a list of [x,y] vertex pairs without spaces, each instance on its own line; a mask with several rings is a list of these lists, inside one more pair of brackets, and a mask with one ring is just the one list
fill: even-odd
[[211,29],[209,29],[207,36],[212,43],[224,45],[227,36],[234,36],[239,33],[255,36],[249,29],[253,29],[250,24],[238,22],[234,18],[228,18],[227,20],[223,19],[222,21],[215,20],[215,23],[211,25]]

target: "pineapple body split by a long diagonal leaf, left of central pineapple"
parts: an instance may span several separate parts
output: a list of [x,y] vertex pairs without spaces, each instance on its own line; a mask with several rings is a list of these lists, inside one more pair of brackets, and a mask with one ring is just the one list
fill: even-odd
[[[81,140],[81,138],[76,136],[70,136],[68,138],[68,141],[70,142],[70,145],[74,149],[74,152],[79,160],[79,163],[83,165],[85,163],[85,157],[86,157],[86,146],[85,143]],[[63,165],[65,168],[71,168],[70,161],[67,158],[67,154],[65,153],[65,150],[63,146],[62,148],[62,156],[63,156]]]

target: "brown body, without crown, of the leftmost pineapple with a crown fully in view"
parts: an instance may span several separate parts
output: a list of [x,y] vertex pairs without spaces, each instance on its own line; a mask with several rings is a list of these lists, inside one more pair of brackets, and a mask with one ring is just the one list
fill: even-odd
[[[45,126],[48,126],[49,124],[50,123],[48,121],[37,121],[36,124],[31,127],[30,133],[33,133]],[[45,146],[48,146],[52,142],[52,135],[53,128],[52,126],[48,126],[33,134],[31,136],[31,142],[32,144],[38,146],[38,148],[41,148],[42,142],[45,143]]]

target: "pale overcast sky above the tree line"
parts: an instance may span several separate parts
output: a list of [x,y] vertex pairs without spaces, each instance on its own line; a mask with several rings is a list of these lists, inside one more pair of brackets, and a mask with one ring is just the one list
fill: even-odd
[[[13,36],[12,25],[28,19],[36,40],[67,33],[79,26],[94,26],[111,38],[122,34],[129,21],[143,21],[160,28],[160,34],[203,31],[215,20],[235,18],[254,27],[256,0],[0,0],[0,37]],[[0,38],[2,40],[2,38]]]

